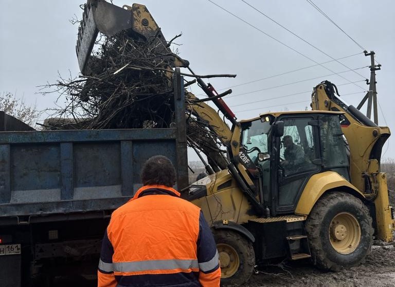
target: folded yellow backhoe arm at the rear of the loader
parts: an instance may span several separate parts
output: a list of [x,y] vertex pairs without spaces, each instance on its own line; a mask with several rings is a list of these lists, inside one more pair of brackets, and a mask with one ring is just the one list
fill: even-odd
[[350,150],[351,183],[367,200],[374,202],[378,236],[392,241],[391,228],[395,229],[395,220],[391,219],[386,174],[380,172],[381,152],[390,136],[389,128],[379,127],[356,107],[347,105],[329,81],[314,88],[312,109],[345,113],[342,131]]

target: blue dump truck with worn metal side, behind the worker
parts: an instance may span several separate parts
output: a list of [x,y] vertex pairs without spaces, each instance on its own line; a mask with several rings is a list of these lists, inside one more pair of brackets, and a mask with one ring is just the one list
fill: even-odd
[[0,286],[92,277],[111,212],[142,186],[149,157],[169,157],[177,188],[188,185],[184,87],[174,81],[173,128],[33,131],[0,114]]

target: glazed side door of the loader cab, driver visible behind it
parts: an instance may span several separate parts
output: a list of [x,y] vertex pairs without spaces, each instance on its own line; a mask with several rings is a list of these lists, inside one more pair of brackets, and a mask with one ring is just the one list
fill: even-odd
[[290,115],[281,120],[284,122],[284,134],[273,138],[276,158],[271,189],[272,209],[276,214],[293,212],[310,177],[321,170],[320,163],[316,161],[320,153],[315,118]]

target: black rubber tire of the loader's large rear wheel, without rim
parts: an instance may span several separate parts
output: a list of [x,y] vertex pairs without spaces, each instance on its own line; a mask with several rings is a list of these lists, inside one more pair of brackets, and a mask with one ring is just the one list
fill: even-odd
[[[347,212],[357,220],[361,239],[350,254],[340,254],[330,242],[330,223],[337,214]],[[324,194],[314,205],[306,221],[313,263],[328,271],[340,271],[357,266],[370,254],[373,242],[372,218],[368,208],[355,196],[345,192]]]

